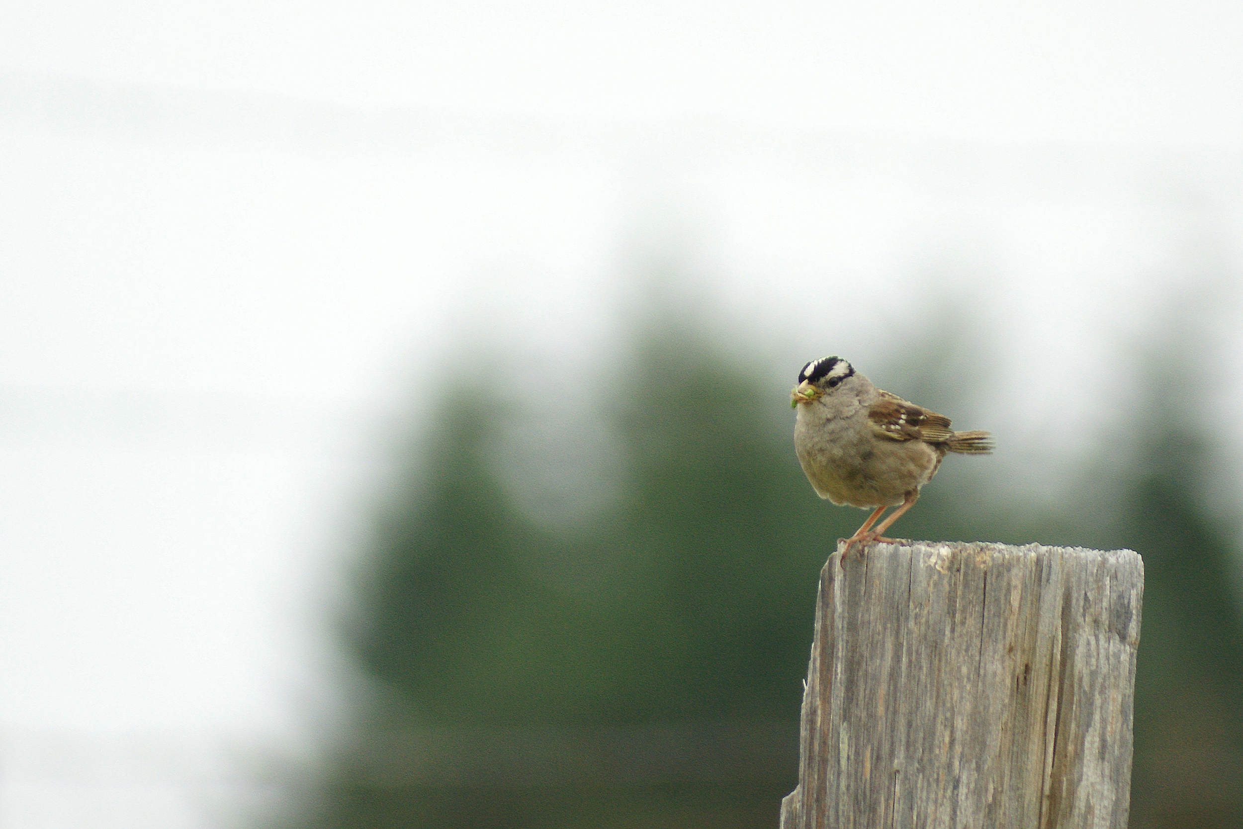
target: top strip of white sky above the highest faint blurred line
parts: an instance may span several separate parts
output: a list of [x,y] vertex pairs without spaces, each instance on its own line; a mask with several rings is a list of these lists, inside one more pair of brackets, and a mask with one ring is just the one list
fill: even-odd
[[1241,137],[1238,4],[40,2],[15,70],[349,103],[970,138]]

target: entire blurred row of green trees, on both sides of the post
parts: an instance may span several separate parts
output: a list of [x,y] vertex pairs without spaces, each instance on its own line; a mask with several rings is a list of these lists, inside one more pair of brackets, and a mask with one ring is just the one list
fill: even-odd
[[[777,825],[817,573],[863,513],[814,496],[784,387],[726,354],[653,326],[614,383],[567,396],[608,413],[623,477],[617,502],[578,526],[533,522],[501,483],[510,415],[445,395],[359,562],[342,641],[368,695],[291,825]],[[943,363],[915,359],[921,377]],[[910,377],[892,388],[960,414],[907,388],[915,373],[876,377]],[[1003,503],[967,464],[947,465],[897,529],[1144,554],[1131,825],[1234,828],[1234,542],[1198,497],[1207,441],[1152,400],[1130,423],[1155,445],[1108,447],[1091,511],[1069,487],[1060,508]]]

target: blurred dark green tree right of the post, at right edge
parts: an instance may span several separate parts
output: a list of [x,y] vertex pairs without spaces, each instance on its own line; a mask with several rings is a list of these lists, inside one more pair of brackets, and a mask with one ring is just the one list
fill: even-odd
[[[1168,389],[1166,389],[1168,390]],[[1196,396],[1181,398],[1195,400]],[[1243,827],[1243,618],[1232,589],[1237,539],[1207,508],[1211,444],[1156,399],[1117,511],[1112,547],[1144,556],[1135,680],[1132,829]]]

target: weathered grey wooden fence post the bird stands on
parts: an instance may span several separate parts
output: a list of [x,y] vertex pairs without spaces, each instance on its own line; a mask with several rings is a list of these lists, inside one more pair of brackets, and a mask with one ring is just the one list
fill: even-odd
[[1126,829],[1144,562],[902,542],[820,572],[781,829]]

